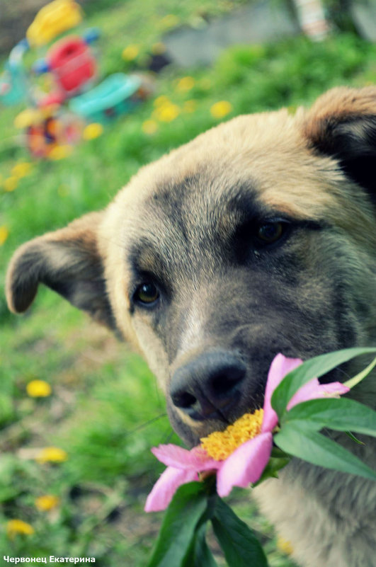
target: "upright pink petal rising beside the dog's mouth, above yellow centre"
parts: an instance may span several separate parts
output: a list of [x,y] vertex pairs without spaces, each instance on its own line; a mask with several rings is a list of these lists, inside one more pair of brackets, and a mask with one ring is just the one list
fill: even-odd
[[275,388],[282,382],[286,374],[294,370],[302,364],[300,358],[287,358],[282,354],[278,354],[270,365],[268,380],[266,382],[265,400],[263,402],[263,425],[262,433],[271,431],[278,423],[278,416],[273,410],[270,399]]

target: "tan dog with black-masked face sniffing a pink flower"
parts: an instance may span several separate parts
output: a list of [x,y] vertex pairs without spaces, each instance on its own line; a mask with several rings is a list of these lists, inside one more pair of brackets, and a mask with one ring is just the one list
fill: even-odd
[[[277,353],[375,345],[375,160],[376,87],[239,116],[144,166],[106,210],[21,246],[8,305],[25,311],[42,283],[120,333],[192,447],[262,405]],[[375,406],[375,387],[351,396]],[[333,437],[375,468],[371,438]],[[372,481],[292,459],[253,492],[301,566],[376,565]]]

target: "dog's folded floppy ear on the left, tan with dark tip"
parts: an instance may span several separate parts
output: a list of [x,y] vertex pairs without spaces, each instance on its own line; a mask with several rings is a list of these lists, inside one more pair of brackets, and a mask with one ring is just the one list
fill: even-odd
[[66,228],[18,248],[6,275],[6,299],[11,311],[22,313],[28,309],[39,283],[43,283],[99,323],[114,327],[97,244],[101,217],[99,212],[86,214]]

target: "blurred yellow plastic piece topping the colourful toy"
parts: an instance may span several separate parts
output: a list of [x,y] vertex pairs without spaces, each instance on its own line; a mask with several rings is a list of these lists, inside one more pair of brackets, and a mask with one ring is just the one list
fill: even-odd
[[30,46],[46,45],[82,21],[79,4],[73,0],[54,0],[40,9],[26,32]]

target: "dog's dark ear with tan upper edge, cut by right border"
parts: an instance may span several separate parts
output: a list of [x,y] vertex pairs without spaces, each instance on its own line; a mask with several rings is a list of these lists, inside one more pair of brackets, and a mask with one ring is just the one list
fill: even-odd
[[376,198],[376,86],[331,89],[307,113],[304,134]]

